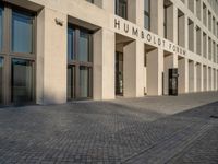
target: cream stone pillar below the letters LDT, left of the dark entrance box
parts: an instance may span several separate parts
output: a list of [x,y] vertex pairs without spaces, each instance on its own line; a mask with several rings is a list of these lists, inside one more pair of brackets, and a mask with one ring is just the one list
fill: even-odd
[[162,95],[164,50],[147,52],[147,94]]

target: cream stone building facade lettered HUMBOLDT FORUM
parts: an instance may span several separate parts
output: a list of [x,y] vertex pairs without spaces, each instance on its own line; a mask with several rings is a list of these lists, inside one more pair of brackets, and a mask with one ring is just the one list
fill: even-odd
[[3,0],[0,104],[218,90],[217,0]]

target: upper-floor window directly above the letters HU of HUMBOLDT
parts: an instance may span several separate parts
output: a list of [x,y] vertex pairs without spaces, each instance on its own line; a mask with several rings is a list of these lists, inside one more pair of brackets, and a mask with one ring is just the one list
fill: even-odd
[[128,0],[116,0],[116,14],[128,20]]

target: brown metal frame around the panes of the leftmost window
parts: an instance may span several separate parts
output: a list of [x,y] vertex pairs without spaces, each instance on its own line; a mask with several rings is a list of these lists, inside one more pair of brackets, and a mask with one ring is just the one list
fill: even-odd
[[[2,51],[0,57],[3,58],[3,105],[16,105],[17,102],[12,102],[12,60],[23,59],[33,62],[33,91],[31,102],[21,102],[22,104],[35,104],[36,103],[36,16],[37,13],[8,2],[0,2],[3,8],[3,36],[2,36]],[[13,52],[12,51],[12,11],[19,11],[21,13],[28,13],[33,17],[33,30],[32,30],[32,52]]]

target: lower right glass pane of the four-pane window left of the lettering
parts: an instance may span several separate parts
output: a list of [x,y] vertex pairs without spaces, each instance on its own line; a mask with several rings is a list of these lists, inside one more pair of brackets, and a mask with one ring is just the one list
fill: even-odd
[[89,69],[87,67],[80,67],[80,97],[89,97]]

